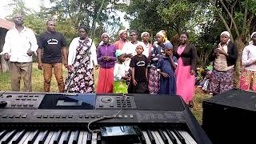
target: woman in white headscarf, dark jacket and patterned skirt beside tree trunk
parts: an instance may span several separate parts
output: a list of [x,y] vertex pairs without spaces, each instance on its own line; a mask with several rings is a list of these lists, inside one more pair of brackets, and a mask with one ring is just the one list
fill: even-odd
[[237,46],[230,42],[230,33],[222,32],[220,43],[214,47],[210,60],[214,62],[214,70],[210,75],[209,92],[222,94],[234,88],[234,65],[238,58]]

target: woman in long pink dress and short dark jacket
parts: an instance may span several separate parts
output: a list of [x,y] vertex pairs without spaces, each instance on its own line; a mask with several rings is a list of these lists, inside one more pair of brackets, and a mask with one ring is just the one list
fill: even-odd
[[178,58],[178,67],[175,70],[177,94],[180,95],[188,106],[193,107],[194,74],[197,51],[194,45],[188,42],[189,35],[182,33],[180,45],[174,49]]

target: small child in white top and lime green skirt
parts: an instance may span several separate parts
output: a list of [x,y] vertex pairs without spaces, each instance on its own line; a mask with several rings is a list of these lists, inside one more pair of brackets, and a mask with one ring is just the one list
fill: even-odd
[[114,65],[114,93],[127,93],[126,86],[126,66],[123,64],[125,62],[125,54],[122,53],[122,50],[117,50],[115,56],[118,58]]

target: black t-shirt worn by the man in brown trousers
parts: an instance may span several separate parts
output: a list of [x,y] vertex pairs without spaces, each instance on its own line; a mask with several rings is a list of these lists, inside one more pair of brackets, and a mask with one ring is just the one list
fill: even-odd
[[38,47],[43,50],[42,63],[62,63],[62,47],[66,39],[61,33],[45,32],[38,37]]

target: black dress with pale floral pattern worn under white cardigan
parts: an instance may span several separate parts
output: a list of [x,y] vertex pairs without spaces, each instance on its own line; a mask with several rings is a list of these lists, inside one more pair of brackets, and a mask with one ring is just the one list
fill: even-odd
[[[90,46],[89,40],[78,41],[79,45],[76,50],[76,56],[72,66],[73,70],[69,70],[65,91],[68,93],[94,93],[94,72],[90,68]],[[81,64],[79,66],[79,64]]]

